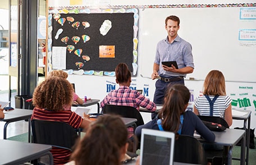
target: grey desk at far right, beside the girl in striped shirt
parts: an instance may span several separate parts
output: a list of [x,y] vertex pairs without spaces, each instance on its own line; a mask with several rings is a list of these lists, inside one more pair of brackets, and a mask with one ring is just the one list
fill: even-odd
[[[232,119],[233,120],[244,120],[244,130],[246,130],[246,158],[245,158],[245,162],[246,165],[248,165],[249,163],[249,143],[250,143],[250,117],[251,117],[251,113],[252,111],[243,111],[243,110],[236,110],[235,111],[241,111],[241,112],[247,112],[244,116],[235,116],[232,115]],[[246,127],[246,123],[247,123],[247,127]],[[233,158],[236,160],[236,158]],[[239,160],[239,159],[238,159]]]

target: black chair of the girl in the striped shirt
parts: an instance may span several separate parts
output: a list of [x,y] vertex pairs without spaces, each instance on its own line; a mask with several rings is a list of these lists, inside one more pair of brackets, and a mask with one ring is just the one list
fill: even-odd
[[[200,116],[200,115],[198,115],[198,117],[203,121],[220,123],[222,126],[225,126],[227,129],[229,129],[229,126],[224,118],[221,118],[218,116]],[[222,150],[207,149],[205,150],[207,161],[211,162],[212,165],[223,164],[227,161],[227,151],[228,151],[228,146],[225,146]]]

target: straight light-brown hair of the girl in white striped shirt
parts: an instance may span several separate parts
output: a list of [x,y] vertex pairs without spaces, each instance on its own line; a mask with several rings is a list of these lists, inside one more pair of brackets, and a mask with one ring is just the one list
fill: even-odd
[[221,71],[212,70],[204,80],[204,91],[206,95],[226,95],[225,77]]

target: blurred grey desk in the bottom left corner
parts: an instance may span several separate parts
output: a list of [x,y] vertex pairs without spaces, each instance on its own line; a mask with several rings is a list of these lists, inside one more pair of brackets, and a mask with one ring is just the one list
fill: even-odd
[[22,164],[44,155],[49,155],[49,162],[53,164],[53,157],[50,152],[51,145],[0,140],[0,146],[0,164]]

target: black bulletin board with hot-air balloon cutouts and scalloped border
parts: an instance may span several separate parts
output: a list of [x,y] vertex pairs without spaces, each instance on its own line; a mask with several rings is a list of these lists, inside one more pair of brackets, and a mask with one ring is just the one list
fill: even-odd
[[116,66],[123,62],[136,76],[138,16],[138,10],[124,8],[76,13],[73,8],[49,13],[49,70],[83,70],[84,74],[115,76]]

